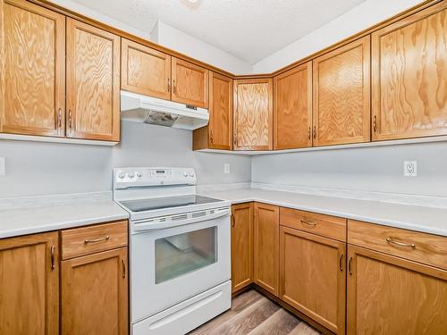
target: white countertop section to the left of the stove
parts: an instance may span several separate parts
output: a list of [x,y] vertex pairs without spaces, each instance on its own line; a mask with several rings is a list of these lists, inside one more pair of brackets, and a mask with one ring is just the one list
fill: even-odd
[[127,219],[112,199],[0,210],[0,239]]

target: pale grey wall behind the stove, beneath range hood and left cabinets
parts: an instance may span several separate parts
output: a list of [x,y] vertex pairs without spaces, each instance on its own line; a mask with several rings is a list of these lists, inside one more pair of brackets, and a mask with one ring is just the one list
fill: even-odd
[[[116,147],[0,140],[0,197],[108,191],[114,166],[193,167],[198,184],[250,181],[248,156],[193,152],[191,141],[188,130],[131,122],[122,122]],[[223,163],[232,173],[223,174]]]

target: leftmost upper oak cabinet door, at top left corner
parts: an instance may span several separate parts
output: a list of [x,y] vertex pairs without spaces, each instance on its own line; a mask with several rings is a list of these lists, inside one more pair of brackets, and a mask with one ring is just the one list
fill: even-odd
[[64,136],[65,17],[2,0],[0,18],[0,131]]

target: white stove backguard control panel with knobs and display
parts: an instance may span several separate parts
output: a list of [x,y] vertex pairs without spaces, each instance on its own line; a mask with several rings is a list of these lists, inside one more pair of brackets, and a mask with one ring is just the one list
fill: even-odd
[[114,169],[114,188],[196,185],[192,168],[126,167]]

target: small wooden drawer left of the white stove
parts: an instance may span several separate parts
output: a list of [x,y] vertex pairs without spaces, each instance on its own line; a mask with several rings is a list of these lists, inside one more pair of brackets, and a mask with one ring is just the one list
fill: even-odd
[[127,221],[61,231],[62,259],[127,246]]

